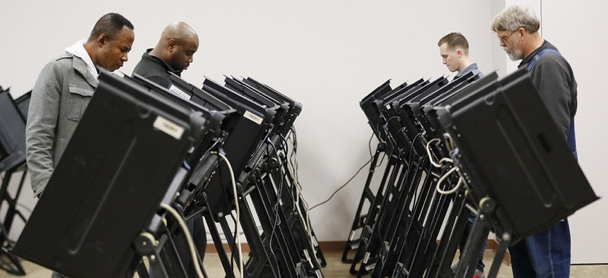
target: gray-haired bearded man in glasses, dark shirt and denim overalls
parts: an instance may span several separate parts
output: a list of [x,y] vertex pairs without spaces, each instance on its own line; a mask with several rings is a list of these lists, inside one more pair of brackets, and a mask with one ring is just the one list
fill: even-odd
[[[539,28],[534,11],[521,6],[505,8],[491,23],[510,59],[521,59],[519,67],[530,71],[532,83],[576,156],[576,80],[568,61],[540,36]],[[513,277],[569,277],[570,246],[568,219],[515,243],[509,247]]]

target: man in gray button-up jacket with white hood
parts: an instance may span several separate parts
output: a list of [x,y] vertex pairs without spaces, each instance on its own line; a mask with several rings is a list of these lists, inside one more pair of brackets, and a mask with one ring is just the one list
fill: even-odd
[[54,168],[78,126],[98,85],[97,66],[122,67],[135,39],[134,27],[118,13],[102,16],[87,40],[66,48],[38,75],[25,130],[27,159],[36,196],[45,190]]

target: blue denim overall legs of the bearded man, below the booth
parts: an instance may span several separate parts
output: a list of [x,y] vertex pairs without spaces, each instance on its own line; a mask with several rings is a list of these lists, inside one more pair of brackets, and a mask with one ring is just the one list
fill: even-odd
[[570,277],[568,219],[509,247],[513,277]]

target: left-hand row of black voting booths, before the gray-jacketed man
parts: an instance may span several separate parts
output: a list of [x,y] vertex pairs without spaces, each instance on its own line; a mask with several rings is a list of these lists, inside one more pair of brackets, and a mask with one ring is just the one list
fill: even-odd
[[322,277],[289,144],[300,103],[252,78],[99,80],[14,253],[70,277],[187,277],[175,210],[204,216],[226,277]]

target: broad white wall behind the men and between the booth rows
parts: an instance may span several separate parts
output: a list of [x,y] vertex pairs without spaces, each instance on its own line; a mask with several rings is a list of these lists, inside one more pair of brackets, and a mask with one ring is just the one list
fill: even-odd
[[[199,33],[201,45],[183,78],[201,85],[204,76],[216,81],[222,81],[223,74],[250,76],[304,104],[296,121],[298,162],[310,205],[328,198],[368,160],[371,131],[358,107],[368,92],[390,78],[399,85],[449,74],[436,46],[440,37],[462,32],[481,71],[506,64],[489,29],[496,10],[493,1],[95,3],[103,8],[93,10],[85,8],[89,4],[69,0],[1,4],[0,85],[12,87],[15,97],[31,90],[42,66],[87,37],[104,13],[122,13],[135,25],[130,60],[120,70],[127,74],[144,49],[156,44],[165,25],[185,21]],[[575,71],[577,78],[583,78],[578,68]],[[595,88],[586,91],[598,94],[600,87]],[[583,115],[577,124],[579,140],[590,140],[585,138]],[[595,157],[585,155],[584,147],[581,152],[583,161]],[[601,164],[599,157],[595,159],[593,163]],[[599,179],[601,171],[588,171],[595,171]],[[320,241],[346,239],[365,177],[363,171],[332,201],[312,211]],[[33,206],[31,199],[22,202]]]

